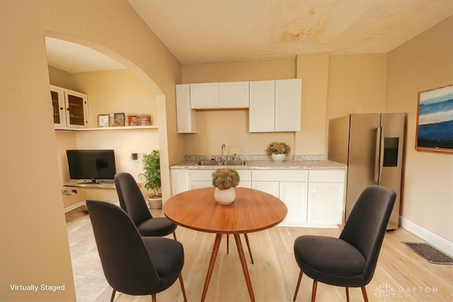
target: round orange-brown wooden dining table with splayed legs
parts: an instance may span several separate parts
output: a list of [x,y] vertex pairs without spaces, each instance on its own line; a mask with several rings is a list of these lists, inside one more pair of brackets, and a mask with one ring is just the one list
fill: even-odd
[[214,200],[214,187],[204,187],[176,194],[164,203],[162,209],[164,215],[179,226],[217,234],[201,301],[205,301],[220,241],[224,234],[234,235],[248,294],[251,301],[255,301],[239,235],[271,228],[285,219],[288,210],[280,199],[259,190],[236,187],[234,202],[221,205]]

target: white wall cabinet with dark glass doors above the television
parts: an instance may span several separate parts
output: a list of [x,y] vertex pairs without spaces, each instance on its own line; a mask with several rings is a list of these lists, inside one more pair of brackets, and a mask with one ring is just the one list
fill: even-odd
[[50,86],[55,129],[88,127],[86,94]]

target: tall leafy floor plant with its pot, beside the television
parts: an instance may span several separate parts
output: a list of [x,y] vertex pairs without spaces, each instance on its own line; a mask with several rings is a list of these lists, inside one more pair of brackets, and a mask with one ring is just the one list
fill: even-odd
[[149,207],[151,209],[161,209],[161,154],[159,150],[153,150],[143,156],[143,170],[144,172],[139,176],[146,181],[144,187],[147,190],[153,190],[153,194],[148,196]]

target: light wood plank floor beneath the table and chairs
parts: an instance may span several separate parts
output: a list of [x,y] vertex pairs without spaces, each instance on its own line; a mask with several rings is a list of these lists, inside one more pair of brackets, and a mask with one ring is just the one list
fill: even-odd
[[[151,212],[162,216],[161,210]],[[66,219],[77,301],[110,301],[112,289],[103,275],[88,213],[81,207],[68,212]],[[292,301],[299,274],[293,253],[297,236],[338,237],[339,233],[340,229],[280,226],[249,233],[254,265],[245,252],[256,301]],[[188,301],[200,301],[214,234],[178,226],[176,235],[184,246],[183,278]],[[386,233],[374,278],[367,285],[369,301],[453,301],[453,265],[432,265],[403,241],[423,242],[403,228]],[[207,302],[250,301],[234,240],[229,240],[229,245],[226,255],[226,238],[222,238]],[[309,277],[302,278],[297,301],[310,301],[311,284]],[[115,301],[151,301],[151,296],[117,293]],[[179,282],[157,294],[157,301],[183,301]],[[345,290],[319,284],[316,301],[346,301]],[[350,289],[350,301],[363,301],[360,289]]]

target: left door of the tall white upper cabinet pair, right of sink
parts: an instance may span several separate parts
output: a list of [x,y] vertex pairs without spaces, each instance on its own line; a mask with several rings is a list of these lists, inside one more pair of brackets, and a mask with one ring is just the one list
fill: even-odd
[[253,81],[250,85],[250,132],[275,131],[275,81]]

